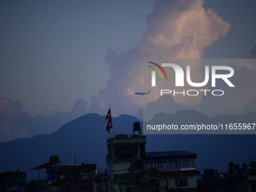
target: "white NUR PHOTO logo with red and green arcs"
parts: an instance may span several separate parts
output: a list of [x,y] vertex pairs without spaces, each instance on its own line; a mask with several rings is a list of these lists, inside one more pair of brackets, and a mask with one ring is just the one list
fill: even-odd
[[[175,87],[184,87],[184,79],[186,79],[187,84],[190,85],[190,87],[197,87],[190,90],[169,90],[169,89],[161,89],[160,90],[160,96],[163,96],[163,94],[173,94],[180,95],[180,96],[198,96],[200,93],[203,93],[204,96],[207,94],[212,94],[212,96],[223,96],[224,90],[215,89],[216,87],[216,80],[220,79],[221,81],[224,81],[225,84],[227,84],[228,87],[235,87],[234,84],[230,81],[230,78],[234,75],[234,70],[230,66],[205,66],[205,78],[203,82],[193,82],[191,80],[191,72],[190,72],[190,66],[186,66],[186,70],[181,68],[178,64],[175,63],[161,63],[161,66],[155,62],[149,62],[153,64],[154,66],[149,66],[153,71],[151,71],[151,87],[157,86],[157,78],[156,75],[160,75],[162,80],[164,80],[163,75],[165,75],[166,81],[170,81],[169,84],[173,84],[171,80],[168,80],[166,72],[169,72],[169,70],[174,70],[175,72]],[[156,66],[156,67],[155,67]],[[163,69],[164,68],[164,69]],[[210,73],[211,69],[211,73]],[[163,75],[162,75],[163,72]],[[186,78],[184,78],[184,74],[186,75]],[[209,80],[211,78],[211,83],[209,83]],[[160,86],[161,84],[158,83]],[[202,87],[205,87],[208,85],[208,87],[212,87],[212,89],[203,89]],[[201,87],[201,89],[200,89]],[[162,87],[161,87],[162,88]]]

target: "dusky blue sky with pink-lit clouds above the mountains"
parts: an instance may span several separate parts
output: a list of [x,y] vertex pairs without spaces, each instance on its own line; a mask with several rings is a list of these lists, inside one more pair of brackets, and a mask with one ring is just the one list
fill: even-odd
[[[252,0],[1,1],[0,142],[52,133],[109,105],[113,116],[142,117],[143,97],[134,93],[148,91],[148,61],[256,58],[255,8]],[[198,79],[201,68],[194,66]],[[245,94],[176,97],[170,113],[254,111],[255,66],[233,68]]]

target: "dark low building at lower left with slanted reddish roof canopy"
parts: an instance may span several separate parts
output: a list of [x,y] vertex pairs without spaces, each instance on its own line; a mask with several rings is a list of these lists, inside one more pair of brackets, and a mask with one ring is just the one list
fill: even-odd
[[[61,166],[58,156],[50,156],[49,161],[32,169],[38,170],[37,187],[58,191],[104,191],[93,188],[94,182],[99,181],[95,178],[98,175],[96,174],[96,164],[82,163],[79,166]],[[40,169],[46,169],[47,178],[45,180],[39,178]],[[105,181],[102,181],[102,184],[102,188],[105,187]]]

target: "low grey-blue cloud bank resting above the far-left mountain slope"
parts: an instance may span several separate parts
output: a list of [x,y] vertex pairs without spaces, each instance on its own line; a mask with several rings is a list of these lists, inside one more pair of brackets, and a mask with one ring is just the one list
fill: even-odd
[[78,99],[72,111],[44,111],[42,114],[31,116],[23,111],[20,101],[14,102],[0,96],[0,142],[53,133],[63,124],[87,113],[87,102]]

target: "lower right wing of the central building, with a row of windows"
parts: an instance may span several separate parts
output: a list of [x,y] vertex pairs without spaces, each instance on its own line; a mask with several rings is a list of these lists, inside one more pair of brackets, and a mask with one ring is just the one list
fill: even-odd
[[197,191],[196,158],[188,151],[147,152],[145,170],[160,191]]

